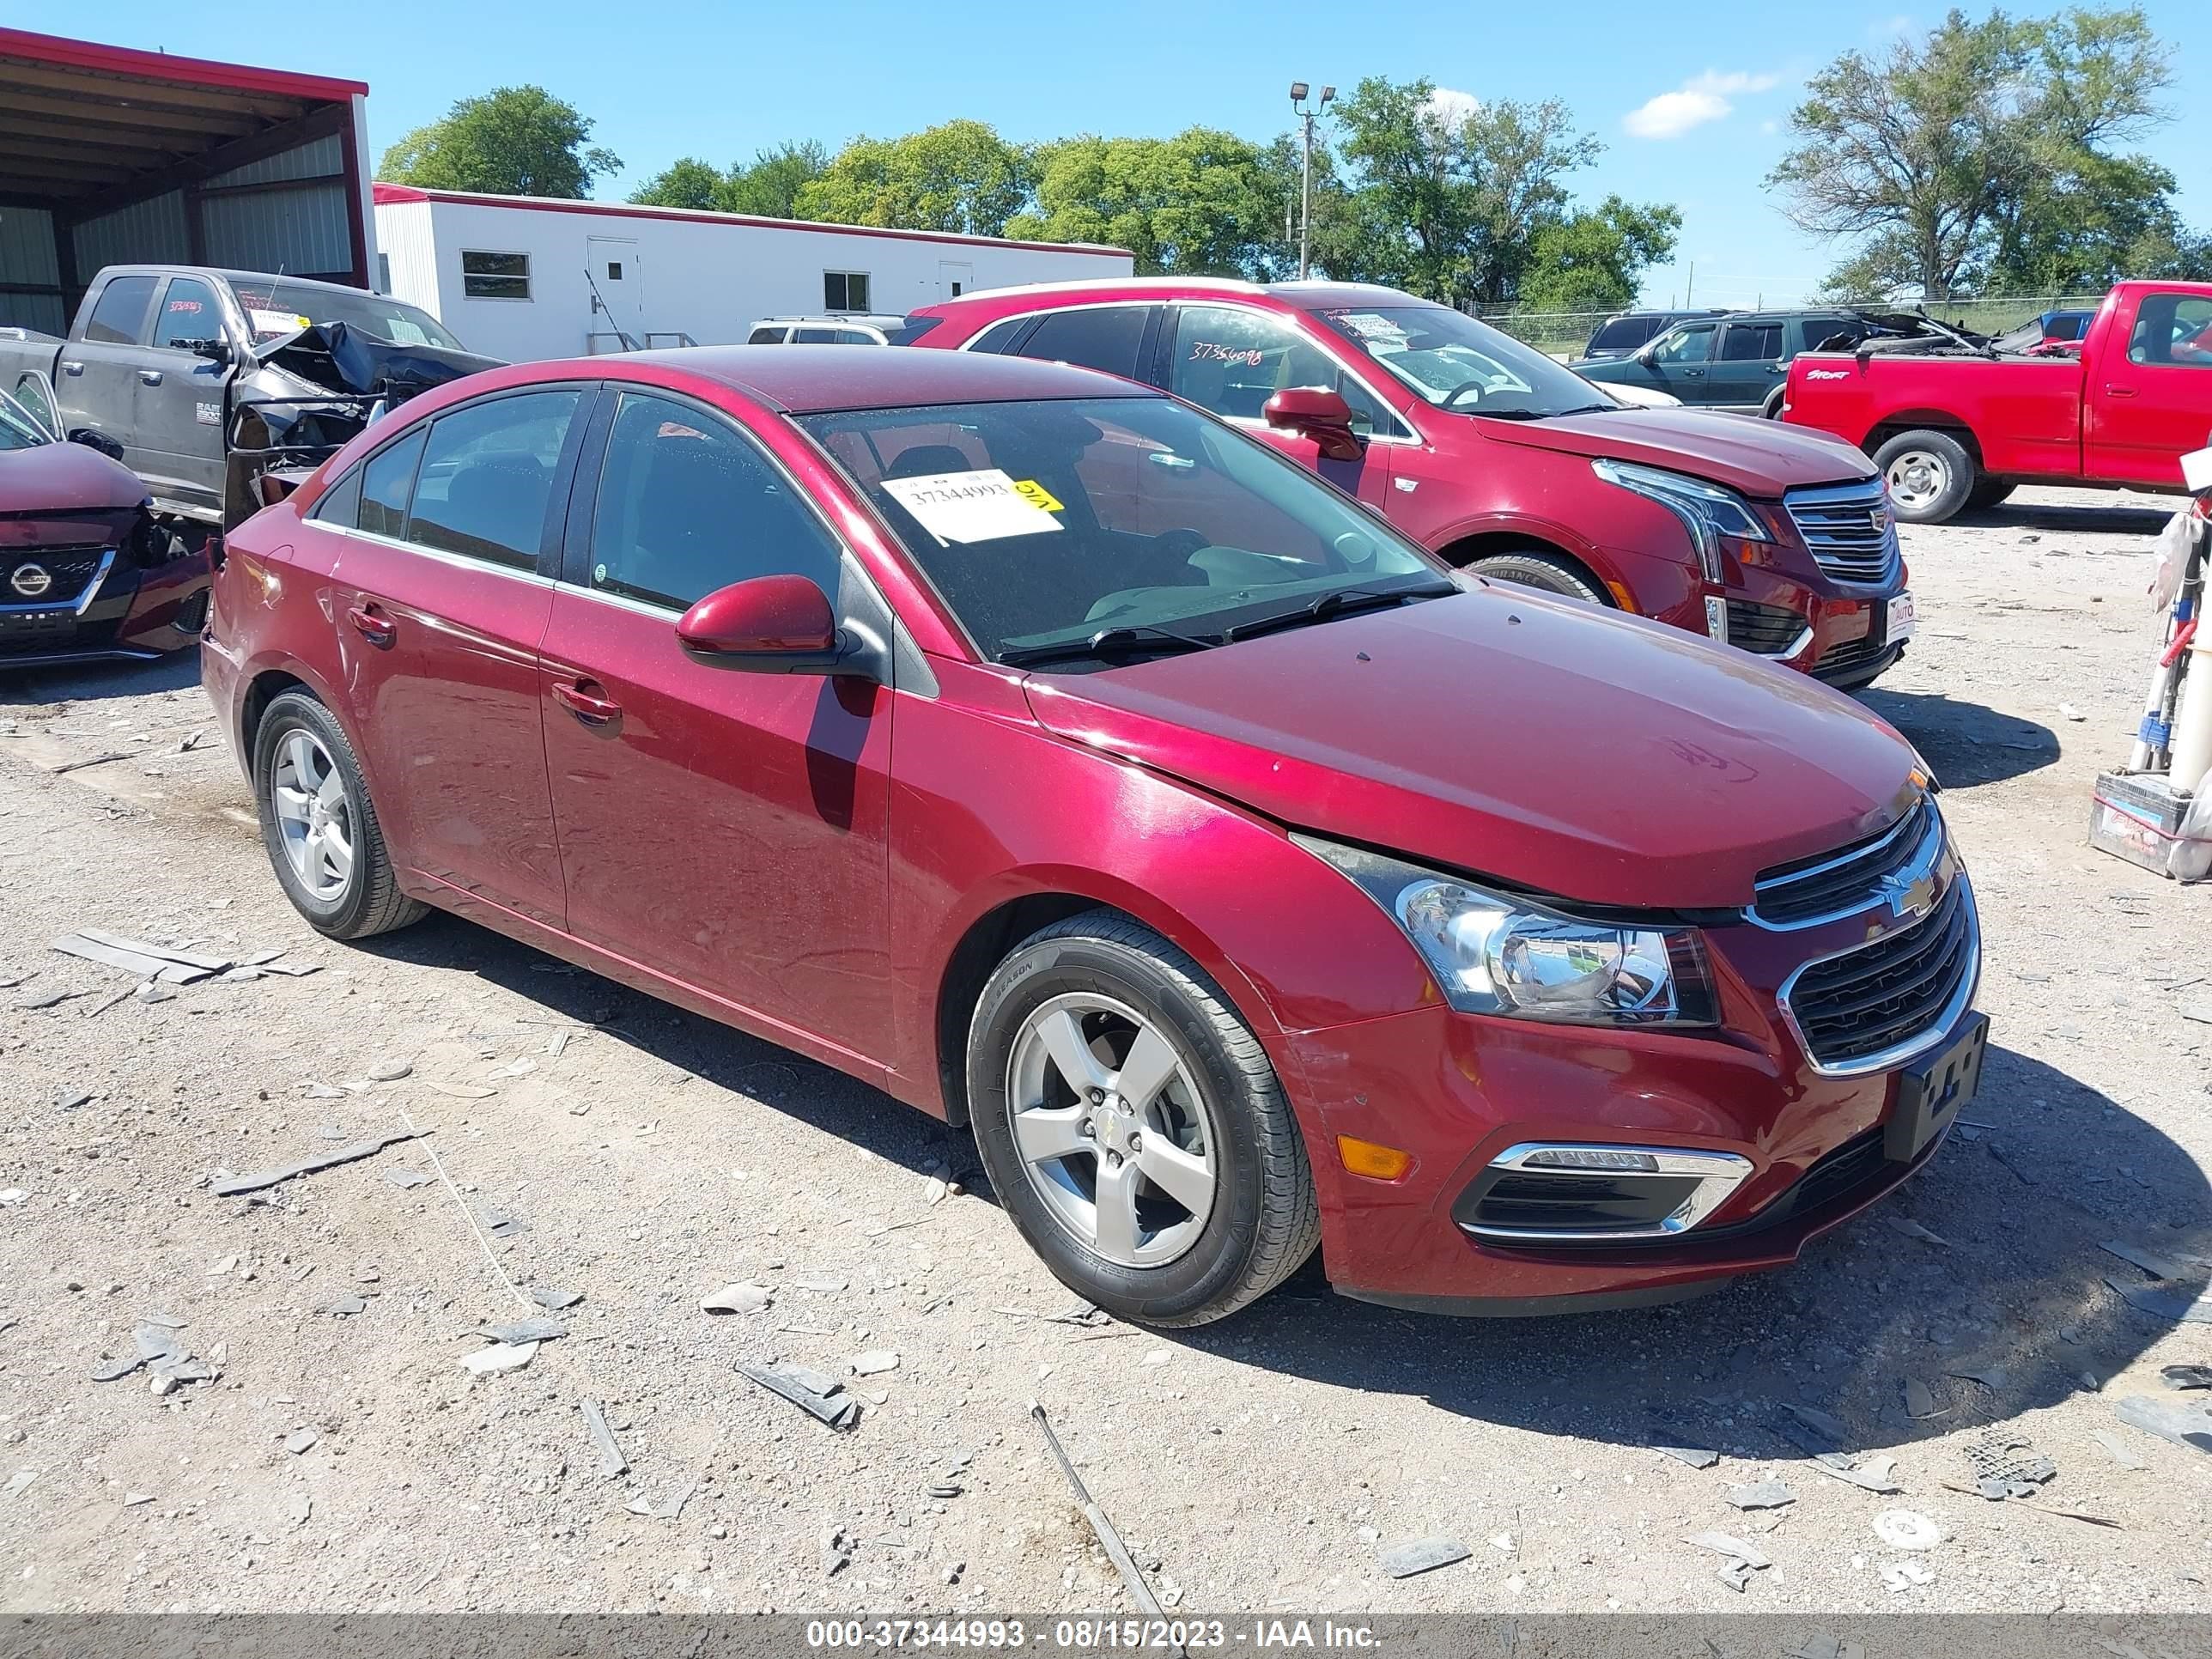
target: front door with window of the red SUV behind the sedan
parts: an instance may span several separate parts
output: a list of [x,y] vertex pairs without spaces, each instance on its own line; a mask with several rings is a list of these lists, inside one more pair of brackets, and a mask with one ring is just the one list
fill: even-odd
[[1360,438],[1396,425],[1396,416],[1287,316],[1241,305],[1175,307],[1166,383],[1175,396],[1243,427],[1347,495],[1376,511],[1389,509],[1387,445],[1363,442],[1358,460],[1332,460],[1312,438],[1267,425],[1267,398],[1294,385],[1340,392]]

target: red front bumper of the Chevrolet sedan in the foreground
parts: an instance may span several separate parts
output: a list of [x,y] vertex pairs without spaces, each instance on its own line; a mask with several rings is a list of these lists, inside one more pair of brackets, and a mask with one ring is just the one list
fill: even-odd
[[[1281,1071],[1321,1130],[1310,1146],[1332,1283],[1405,1307],[1537,1314],[1670,1301],[1792,1263],[1927,1166],[1949,1133],[1942,1121],[1898,1155],[1891,1126],[1905,1110],[1905,1066],[1947,1053],[1982,1020],[1973,898],[1964,878],[1958,887],[1975,929],[1962,993],[1889,1071],[1814,1064],[1778,1002],[1798,967],[1865,940],[1865,914],[1792,931],[1708,931],[1723,1035],[1542,1026],[1447,1006],[1287,1035]],[[1398,1181],[1349,1175],[1338,1135],[1405,1148],[1413,1168]],[[1750,1170],[1681,1232],[1546,1241],[1469,1230],[1469,1194],[1524,1144],[1679,1148]]]

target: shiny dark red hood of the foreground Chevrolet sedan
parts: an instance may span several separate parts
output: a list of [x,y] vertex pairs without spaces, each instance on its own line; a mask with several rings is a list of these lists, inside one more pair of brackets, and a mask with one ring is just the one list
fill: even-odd
[[1803,675],[1489,584],[1026,686],[1060,737],[1279,823],[1595,905],[1747,905],[1896,818],[1916,768]]

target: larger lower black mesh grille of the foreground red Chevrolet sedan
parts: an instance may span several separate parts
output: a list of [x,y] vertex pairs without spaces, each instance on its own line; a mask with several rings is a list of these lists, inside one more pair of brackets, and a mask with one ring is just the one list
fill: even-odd
[[1964,1013],[1978,962],[1973,894],[1958,876],[1911,927],[1792,973],[1783,1013],[1820,1071],[1887,1071]]

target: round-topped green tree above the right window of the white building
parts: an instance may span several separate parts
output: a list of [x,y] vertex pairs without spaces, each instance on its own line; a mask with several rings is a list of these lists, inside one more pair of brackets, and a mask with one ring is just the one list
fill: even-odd
[[858,137],[799,188],[801,219],[998,237],[1029,201],[1029,159],[984,122]]

